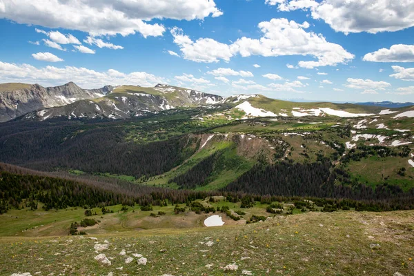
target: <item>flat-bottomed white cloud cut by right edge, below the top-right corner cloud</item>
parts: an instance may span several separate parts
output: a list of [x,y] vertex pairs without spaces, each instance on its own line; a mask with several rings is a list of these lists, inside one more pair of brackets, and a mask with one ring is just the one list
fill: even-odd
[[414,45],[396,44],[391,48],[382,48],[375,52],[369,52],[363,61],[375,62],[414,62]]

